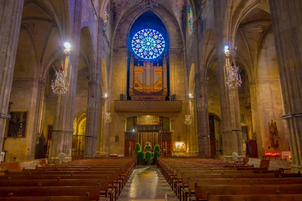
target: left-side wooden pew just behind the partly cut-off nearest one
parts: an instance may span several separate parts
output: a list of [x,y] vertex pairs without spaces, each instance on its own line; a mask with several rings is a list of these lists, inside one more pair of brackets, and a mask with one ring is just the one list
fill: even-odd
[[0,187],[0,197],[11,196],[11,193],[13,196],[81,196],[87,192],[89,192],[89,200],[107,200],[107,196],[100,197],[100,186]]

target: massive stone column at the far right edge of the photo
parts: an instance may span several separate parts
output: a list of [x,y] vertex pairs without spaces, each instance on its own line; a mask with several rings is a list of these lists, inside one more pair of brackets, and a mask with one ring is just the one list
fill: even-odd
[[291,167],[302,168],[302,1],[269,1],[276,45]]

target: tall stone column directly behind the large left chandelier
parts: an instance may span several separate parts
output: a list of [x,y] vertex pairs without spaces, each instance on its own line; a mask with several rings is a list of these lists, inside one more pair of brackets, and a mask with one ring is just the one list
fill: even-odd
[[70,30],[70,37],[67,36],[72,44],[70,54],[65,56],[63,61],[64,72],[67,73],[69,83],[68,91],[65,94],[58,94],[54,112],[53,130],[51,140],[51,150],[49,153],[50,162],[58,162],[58,155],[65,153],[64,161],[71,160],[71,144],[73,134],[73,118],[75,94],[77,92],[77,75],[79,64],[79,49],[81,36],[82,2],[74,1],[73,19]]

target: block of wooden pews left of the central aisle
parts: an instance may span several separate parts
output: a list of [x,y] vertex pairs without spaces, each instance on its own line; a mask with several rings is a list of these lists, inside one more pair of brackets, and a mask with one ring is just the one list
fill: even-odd
[[117,200],[135,161],[134,157],[93,158],[7,170],[0,176],[0,200]]

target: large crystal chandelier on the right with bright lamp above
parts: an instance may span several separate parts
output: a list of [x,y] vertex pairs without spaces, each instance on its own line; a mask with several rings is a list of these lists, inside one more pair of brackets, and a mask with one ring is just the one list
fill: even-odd
[[235,50],[229,50],[228,46],[224,47],[223,53],[225,54],[225,67],[226,67],[226,85],[228,85],[230,88],[237,88],[240,87],[242,84],[241,76],[238,73],[239,67],[234,64],[232,61],[230,65],[230,56],[232,59],[235,60],[236,58],[236,52]]

